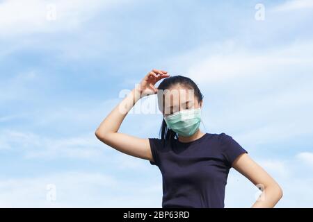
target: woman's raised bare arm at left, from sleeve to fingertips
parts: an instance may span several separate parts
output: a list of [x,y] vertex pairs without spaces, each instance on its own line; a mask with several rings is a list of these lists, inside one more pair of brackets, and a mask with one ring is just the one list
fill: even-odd
[[145,160],[153,160],[149,139],[142,139],[127,135],[125,133],[118,133],[122,121],[125,119],[127,113],[134,107],[135,103],[143,96],[157,93],[157,83],[162,78],[168,77],[167,71],[152,69],[144,78],[138,87],[135,87],[115,108],[106,116],[95,131],[96,137],[115,148],[117,151],[139,157]]

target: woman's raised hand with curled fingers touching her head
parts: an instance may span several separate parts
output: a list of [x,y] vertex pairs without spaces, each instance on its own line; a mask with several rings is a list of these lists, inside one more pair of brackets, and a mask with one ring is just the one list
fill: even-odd
[[138,85],[137,89],[141,93],[141,97],[151,94],[157,94],[158,89],[154,86],[155,83],[157,83],[162,78],[166,78],[168,76],[170,76],[170,74],[168,74],[167,71],[152,69],[152,71],[150,71]]

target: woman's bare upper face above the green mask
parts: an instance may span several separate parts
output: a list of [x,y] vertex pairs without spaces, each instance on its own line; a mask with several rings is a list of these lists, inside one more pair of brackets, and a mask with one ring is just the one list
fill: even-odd
[[158,92],[158,98],[159,108],[163,108],[163,110],[161,110],[163,117],[182,110],[202,107],[202,101],[198,101],[194,89],[189,89],[184,85],[177,84],[163,92]]

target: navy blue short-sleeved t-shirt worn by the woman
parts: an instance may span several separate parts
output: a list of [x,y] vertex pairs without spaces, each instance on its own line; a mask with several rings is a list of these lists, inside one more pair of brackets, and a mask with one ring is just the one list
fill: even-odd
[[149,138],[154,162],[162,173],[162,207],[223,208],[232,162],[248,153],[230,135],[206,133],[192,142],[172,146]]

